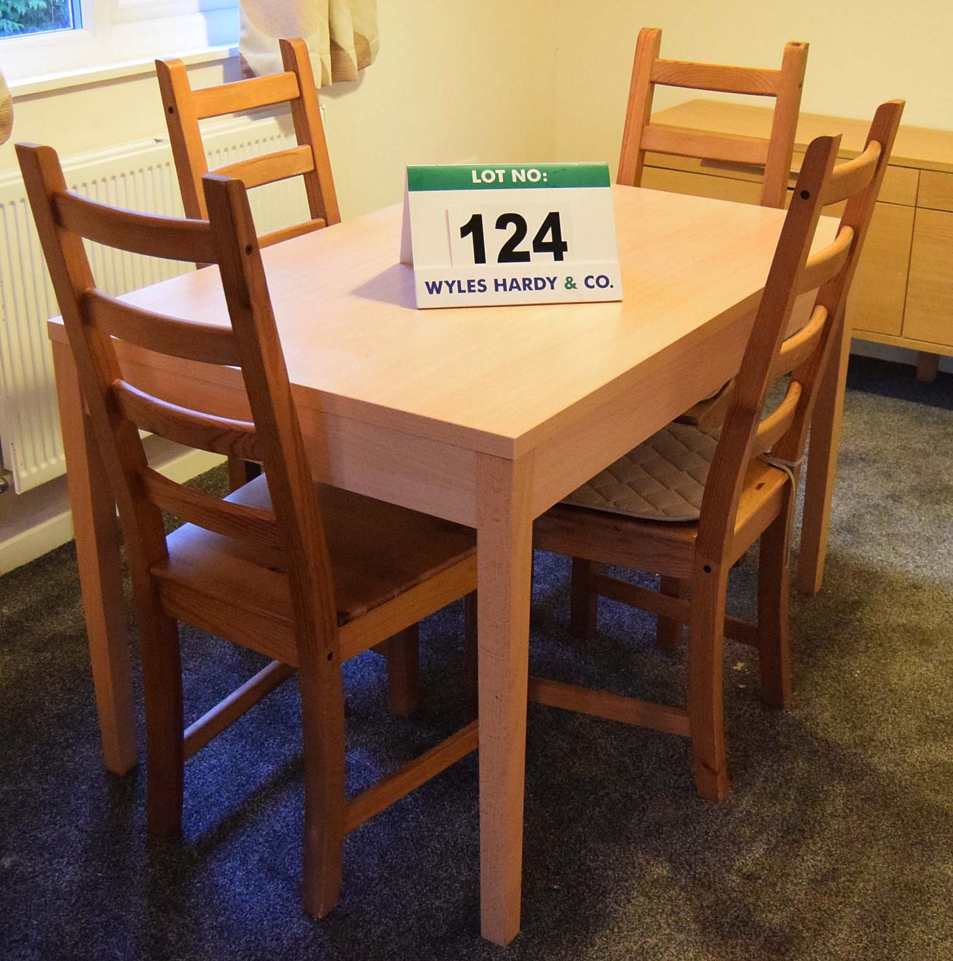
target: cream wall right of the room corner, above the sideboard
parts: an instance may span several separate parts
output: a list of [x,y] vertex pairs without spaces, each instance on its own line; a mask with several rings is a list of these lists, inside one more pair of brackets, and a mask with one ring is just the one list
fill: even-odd
[[[560,0],[556,151],[615,169],[639,28],[661,27],[672,60],[780,64],[788,40],[811,44],[802,110],[871,116],[893,97],[904,122],[953,128],[950,0]],[[659,91],[670,106],[690,91]]]

